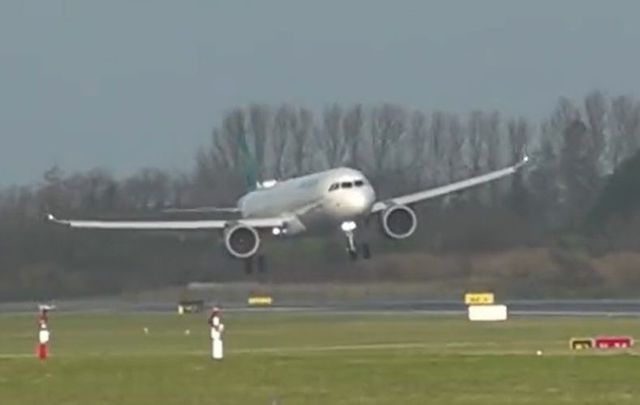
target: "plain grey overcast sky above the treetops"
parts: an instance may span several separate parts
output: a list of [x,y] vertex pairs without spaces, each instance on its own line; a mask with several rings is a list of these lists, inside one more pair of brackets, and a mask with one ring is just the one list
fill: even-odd
[[533,119],[640,93],[640,1],[2,0],[0,185],[188,169],[230,107],[399,102]]

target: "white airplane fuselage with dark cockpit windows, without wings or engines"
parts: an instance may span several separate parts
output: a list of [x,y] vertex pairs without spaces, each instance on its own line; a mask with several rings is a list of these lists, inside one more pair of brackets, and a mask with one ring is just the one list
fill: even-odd
[[286,233],[335,229],[367,215],[376,200],[358,170],[337,168],[296,177],[252,191],[238,201],[243,218],[282,216]]

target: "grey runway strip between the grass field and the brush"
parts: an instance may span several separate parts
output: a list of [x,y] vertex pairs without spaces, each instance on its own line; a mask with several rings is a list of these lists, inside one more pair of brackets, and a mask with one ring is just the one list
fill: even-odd
[[[171,313],[177,303],[169,301],[130,302],[120,299],[83,299],[51,301],[56,312],[70,313]],[[625,316],[640,317],[640,300],[506,300],[510,315],[515,316]],[[205,308],[214,305],[206,302]],[[229,312],[298,312],[298,313],[422,313],[425,315],[460,315],[466,306],[455,300],[390,300],[308,304],[300,301],[275,302],[270,307],[248,307],[242,302],[219,302]],[[33,313],[38,302],[0,303],[0,314]]]

